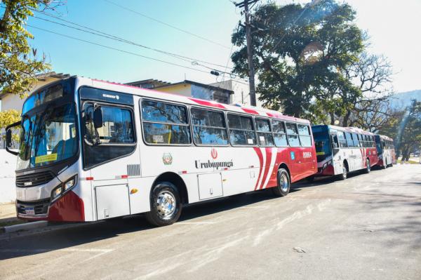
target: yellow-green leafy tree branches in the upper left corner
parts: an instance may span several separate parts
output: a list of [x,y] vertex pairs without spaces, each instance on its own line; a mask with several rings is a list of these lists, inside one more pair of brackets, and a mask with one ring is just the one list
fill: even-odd
[[[33,36],[24,27],[32,11],[54,9],[62,5],[52,0],[3,0],[0,12],[0,92],[25,95],[33,86],[34,76],[49,69],[45,56],[38,58],[28,39]],[[22,97],[22,96],[21,96]]]

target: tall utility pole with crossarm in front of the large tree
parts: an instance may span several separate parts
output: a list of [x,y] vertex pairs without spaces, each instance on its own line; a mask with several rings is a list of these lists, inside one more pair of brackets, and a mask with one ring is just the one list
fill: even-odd
[[250,86],[250,105],[256,105],[256,92],[255,92],[255,81],[254,81],[254,65],[253,65],[253,46],[251,43],[251,29],[250,29],[250,13],[248,11],[248,5],[253,4],[259,0],[244,0],[241,3],[235,4],[237,7],[244,7],[244,13],[246,15],[246,41],[247,41],[247,60],[248,60],[248,84]]

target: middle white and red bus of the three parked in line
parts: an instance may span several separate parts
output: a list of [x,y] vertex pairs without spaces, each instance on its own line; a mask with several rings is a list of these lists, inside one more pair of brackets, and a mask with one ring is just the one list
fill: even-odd
[[370,173],[378,162],[375,135],[360,128],[312,126],[316,145],[316,176],[338,175],[342,180],[352,171]]

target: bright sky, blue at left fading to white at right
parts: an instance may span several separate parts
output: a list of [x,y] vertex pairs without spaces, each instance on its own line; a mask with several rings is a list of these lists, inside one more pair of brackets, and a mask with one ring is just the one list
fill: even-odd
[[[116,6],[110,1],[132,11]],[[288,4],[308,1],[276,2]],[[347,3],[357,12],[356,24],[370,35],[370,53],[383,54],[392,63],[394,90],[403,92],[421,89],[419,71],[421,32],[417,30],[421,27],[419,16],[421,0],[349,0]],[[58,8],[58,12],[53,14],[59,15],[64,20],[119,36],[135,44],[195,60],[213,62],[220,66],[207,66],[222,70],[225,70],[225,65],[232,66],[229,60],[232,51],[231,34],[241,20],[239,8],[235,8],[230,0],[67,0],[67,5]],[[43,18],[53,20],[46,16]],[[58,73],[77,74],[121,83],[142,79],[169,82],[189,79],[210,84],[222,79],[209,74],[210,69],[206,67],[192,65],[191,60],[180,60],[147,48],[86,34],[37,18],[29,18],[27,23],[77,39],[135,53],[135,55],[123,53],[27,27],[29,32],[34,34],[30,44],[37,49],[38,55],[46,54],[53,71]],[[226,71],[229,72],[230,69],[227,68]]]

